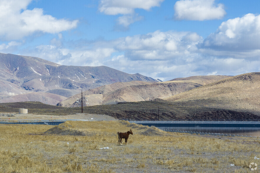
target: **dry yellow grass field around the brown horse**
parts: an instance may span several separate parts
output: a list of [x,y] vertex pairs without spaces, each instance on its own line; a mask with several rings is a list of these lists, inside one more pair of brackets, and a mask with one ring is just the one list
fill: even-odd
[[[130,129],[128,144],[119,146],[116,133]],[[251,162],[260,164],[259,138],[164,132],[126,121],[3,124],[0,131],[0,172],[251,172]]]

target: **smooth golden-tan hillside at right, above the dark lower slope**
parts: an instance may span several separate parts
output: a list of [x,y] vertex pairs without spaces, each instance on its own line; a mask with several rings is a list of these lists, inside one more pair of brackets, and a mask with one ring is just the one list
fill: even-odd
[[165,99],[187,107],[208,107],[260,115],[260,72],[241,74]]

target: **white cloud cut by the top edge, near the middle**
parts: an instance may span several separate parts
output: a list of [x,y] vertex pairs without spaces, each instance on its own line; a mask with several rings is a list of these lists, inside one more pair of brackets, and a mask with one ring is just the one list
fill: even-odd
[[134,9],[149,10],[154,6],[160,6],[164,0],[101,0],[99,11],[108,15],[132,14]]

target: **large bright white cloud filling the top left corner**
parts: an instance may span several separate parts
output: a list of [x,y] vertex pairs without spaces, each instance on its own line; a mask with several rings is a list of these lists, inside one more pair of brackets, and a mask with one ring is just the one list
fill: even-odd
[[56,19],[51,15],[43,14],[43,10],[39,8],[28,10],[27,6],[31,1],[0,1],[1,39],[21,39],[34,32],[59,33],[77,26],[78,20]]

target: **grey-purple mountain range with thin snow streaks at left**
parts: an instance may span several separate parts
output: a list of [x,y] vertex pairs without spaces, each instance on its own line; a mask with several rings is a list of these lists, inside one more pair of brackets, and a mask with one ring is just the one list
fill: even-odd
[[[106,66],[62,66],[37,57],[0,53],[0,99],[5,102],[11,102],[15,95],[29,92],[50,92],[69,97],[78,92],[71,93],[66,89],[87,90],[134,80],[158,82],[138,73],[128,74]],[[38,101],[44,102],[44,99]]]

